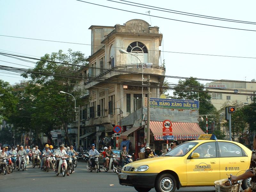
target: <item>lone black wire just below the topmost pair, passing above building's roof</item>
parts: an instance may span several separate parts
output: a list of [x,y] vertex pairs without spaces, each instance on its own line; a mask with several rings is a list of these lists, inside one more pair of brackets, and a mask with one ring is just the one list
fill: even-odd
[[[100,4],[95,4],[95,3],[90,3],[90,2],[86,2],[86,1],[82,1],[82,0],[76,0],[76,1],[80,1],[80,2],[88,3],[88,4],[93,4],[93,5],[98,5],[98,6],[102,6],[102,7],[107,7],[107,8],[110,8],[110,9],[116,9],[116,10],[120,10],[120,11],[131,12],[131,13],[137,13],[137,14],[140,14],[140,15],[146,15],[146,16],[148,16],[147,14],[144,14],[144,13],[138,13],[138,12],[128,11],[128,10],[124,10],[124,9],[118,9],[118,8],[109,7],[109,6],[100,5]],[[195,22],[190,22],[190,21],[176,20],[176,19],[171,19],[171,18],[166,18],[166,17],[160,17],[160,16],[156,16],[156,15],[150,15],[150,16],[152,16],[152,17],[157,17],[157,18],[161,18],[161,19],[174,20],[174,21],[181,21],[181,22],[192,23],[192,24],[198,24],[198,25],[205,25],[205,26],[211,26],[211,27],[228,28],[228,29],[237,29],[237,30],[244,30],[244,31],[256,31],[256,30],[251,30],[251,29],[241,29],[241,28],[222,27],[222,26],[217,26],[217,25],[209,25],[209,24],[195,23]]]

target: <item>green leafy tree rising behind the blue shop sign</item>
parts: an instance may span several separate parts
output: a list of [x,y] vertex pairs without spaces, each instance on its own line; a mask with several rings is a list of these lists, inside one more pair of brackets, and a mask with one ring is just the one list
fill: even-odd
[[[176,85],[173,90],[172,99],[199,99],[199,115],[216,114],[216,108],[211,103],[211,96],[204,89],[204,84],[197,81],[195,77],[179,80],[178,85]],[[211,121],[208,123],[211,123]],[[206,127],[205,122],[200,122],[200,127],[204,130]]]

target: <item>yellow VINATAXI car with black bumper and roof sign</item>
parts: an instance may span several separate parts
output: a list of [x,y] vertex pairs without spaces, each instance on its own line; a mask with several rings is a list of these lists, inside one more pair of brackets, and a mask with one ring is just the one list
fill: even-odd
[[[155,188],[157,192],[173,192],[180,187],[214,186],[214,181],[227,174],[240,175],[250,166],[252,151],[244,145],[217,140],[212,134],[200,135],[173,148],[163,156],[126,164],[118,174],[121,185],[139,192]],[[244,180],[242,188],[247,188]]]

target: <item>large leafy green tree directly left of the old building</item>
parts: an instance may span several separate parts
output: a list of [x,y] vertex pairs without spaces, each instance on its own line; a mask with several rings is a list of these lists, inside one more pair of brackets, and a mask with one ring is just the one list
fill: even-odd
[[87,64],[86,57],[81,52],[68,50],[64,54],[60,50],[51,55],[45,54],[41,59],[35,68],[23,74],[24,77],[30,76],[29,83],[34,85],[31,89],[35,109],[31,115],[32,126],[34,124],[37,127],[36,132],[44,132],[48,138],[51,138],[50,131],[63,127],[65,139],[70,145],[68,124],[76,115],[74,100],[73,97],[59,92],[71,93],[76,99],[84,93],[85,90],[76,89],[76,85],[82,81],[77,71]]

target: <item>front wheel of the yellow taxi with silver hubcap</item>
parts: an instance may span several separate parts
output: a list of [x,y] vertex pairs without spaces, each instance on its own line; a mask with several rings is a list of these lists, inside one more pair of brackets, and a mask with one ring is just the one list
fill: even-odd
[[157,192],[173,192],[177,186],[176,179],[169,173],[161,174],[155,183]]

